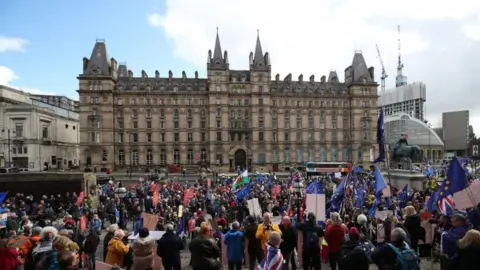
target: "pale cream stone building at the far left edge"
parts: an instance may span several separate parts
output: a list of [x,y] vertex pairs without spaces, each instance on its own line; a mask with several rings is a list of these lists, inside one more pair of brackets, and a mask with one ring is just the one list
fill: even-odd
[[41,171],[78,166],[78,112],[6,86],[0,86],[0,99],[0,167]]

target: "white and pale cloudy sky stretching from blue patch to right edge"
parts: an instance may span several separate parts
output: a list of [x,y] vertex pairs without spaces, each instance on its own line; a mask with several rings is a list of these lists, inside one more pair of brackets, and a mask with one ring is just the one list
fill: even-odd
[[[204,67],[219,27],[223,50],[231,68],[247,68],[257,29],[264,51],[271,56],[273,73],[316,78],[351,63],[361,50],[367,65],[380,77],[378,44],[395,84],[397,25],[408,81],[427,85],[427,119],[441,125],[441,113],[470,110],[471,123],[480,129],[480,1],[471,0],[167,0],[163,13],[149,22],[161,28],[174,44],[174,53]],[[480,131],[479,131],[480,132]],[[478,133],[478,132],[477,132]]]

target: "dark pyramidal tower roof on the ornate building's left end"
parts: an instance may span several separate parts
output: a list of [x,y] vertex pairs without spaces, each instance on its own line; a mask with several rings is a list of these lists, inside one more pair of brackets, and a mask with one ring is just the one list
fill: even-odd
[[97,39],[92,50],[92,55],[83,73],[84,75],[111,75],[110,60],[108,58],[105,40]]

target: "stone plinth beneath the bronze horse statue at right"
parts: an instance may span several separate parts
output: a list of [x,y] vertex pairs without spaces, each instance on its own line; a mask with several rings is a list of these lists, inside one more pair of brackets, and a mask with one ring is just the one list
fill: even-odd
[[385,182],[391,183],[394,187],[402,188],[408,184],[409,189],[423,190],[425,175],[421,172],[411,170],[390,169],[384,171]]

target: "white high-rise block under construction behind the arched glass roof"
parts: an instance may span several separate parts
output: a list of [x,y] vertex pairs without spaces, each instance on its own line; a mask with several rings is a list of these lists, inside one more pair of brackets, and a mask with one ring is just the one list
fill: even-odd
[[380,106],[382,106],[384,114],[397,115],[406,113],[411,117],[424,121],[425,103],[427,102],[426,85],[423,82],[407,84],[404,76],[401,77],[400,81],[403,84],[380,95]]

